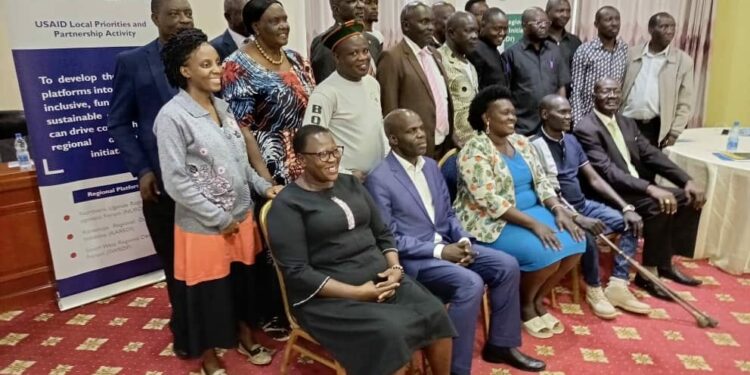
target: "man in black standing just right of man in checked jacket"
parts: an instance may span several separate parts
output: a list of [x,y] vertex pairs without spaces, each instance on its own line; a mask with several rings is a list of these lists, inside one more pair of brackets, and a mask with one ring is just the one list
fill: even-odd
[[484,14],[484,22],[479,29],[479,43],[471,53],[469,61],[477,69],[479,89],[501,85],[508,87],[503,64],[500,62],[498,47],[508,36],[508,16],[500,8],[490,8]]

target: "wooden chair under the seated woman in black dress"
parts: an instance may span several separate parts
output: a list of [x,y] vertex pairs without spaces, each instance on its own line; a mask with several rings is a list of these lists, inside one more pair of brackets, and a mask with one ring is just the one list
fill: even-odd
[[[261,231],[263,232],[263,238],[266,240],[266,245],[268,246],[269,251],[271,252],[271,256],[273,257],[273,251],[271,250],[271,241],[268,238],[268,211],[271,209],[271,203],[272,201],[266,202],[266,204],[263,205],[263,207],[260,210],[260,227]],[[289,361],[292,359],[292,353],[297,352],[301,355],[304,355],[308,358],[311,358],[312,360],[322,363],[326,367],[332,369],[336,372],[336,375],[345,375],[346,371],[344,371],[344,368],[341,367],[341,365],[336,362],[336,360],[332,358],[326,358],[318,353],[315,353],[311,351],[310,349],[300,345],[298,341],[300,339],[307,341],[310,344],[320,346],[320,343],[318,343],[312,336],[310,336],[309,333],[307,333],[300,325],[297,323],[297,320],[294,318],[294,315],[292,315],[291,308],[289,307],[289,301],[287,300],[286,295],[286,284],[284,283],[284,275],[281,272],[281,269],[279,269],[278,263],[276,262],[276,259],[274,258],[274,268],[276,269],[276,275],[279,277],[279,284],[281,286],[281,297],[282,301],[284,303],[284,312],[286,313],[286,318],[289,320],[289,327],[291,328],[291,332],[289,334],[289,341],[286,343],[286,348],[284,349],[284,358],[281,362],[281,369],[279,370],[279,373],[281,375],[286,375],[289,371]]]

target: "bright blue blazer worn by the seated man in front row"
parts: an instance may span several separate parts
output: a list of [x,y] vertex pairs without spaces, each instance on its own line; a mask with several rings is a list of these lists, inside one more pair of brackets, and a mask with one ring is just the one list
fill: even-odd
[[458,242],[461,237],[472,238],[461,228],[453,212],[448,186],[437,163],[427,157],[424,161],[422,171],[435,206],[435,224],[427,215],[417,188],[392,151],[367,175],[365,181],[365,187],[380,209],[383,222],[396,238],[399,258],[405,271],[414,277],[423,267],[444,262],[433,256],[436,232],[443,237],[444,243]]

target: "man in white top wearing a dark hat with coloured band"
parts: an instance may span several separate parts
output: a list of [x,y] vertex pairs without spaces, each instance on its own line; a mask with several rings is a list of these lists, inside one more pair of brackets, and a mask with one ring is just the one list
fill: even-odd
[[339,24],[322,42],[333,51],[336,71],[310,95],[302,124],[330,129],[336,144],[344,146],[341,171],[364,180],[388,151],[380,85],[368,74],[371,58],[364,25]]

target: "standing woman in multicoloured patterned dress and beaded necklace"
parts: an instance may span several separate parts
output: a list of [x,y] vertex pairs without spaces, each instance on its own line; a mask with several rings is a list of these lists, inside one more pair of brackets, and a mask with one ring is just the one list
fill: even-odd
[[301,172],[291,141],[315,86],[312,68],[283,48],[289,23],[280,2],[253,0],[242,16],[253,38],[224,61],[222,95],[242,128],[253,167],[261,174],[267,167],[270,176],[264,177],[286,184]]

